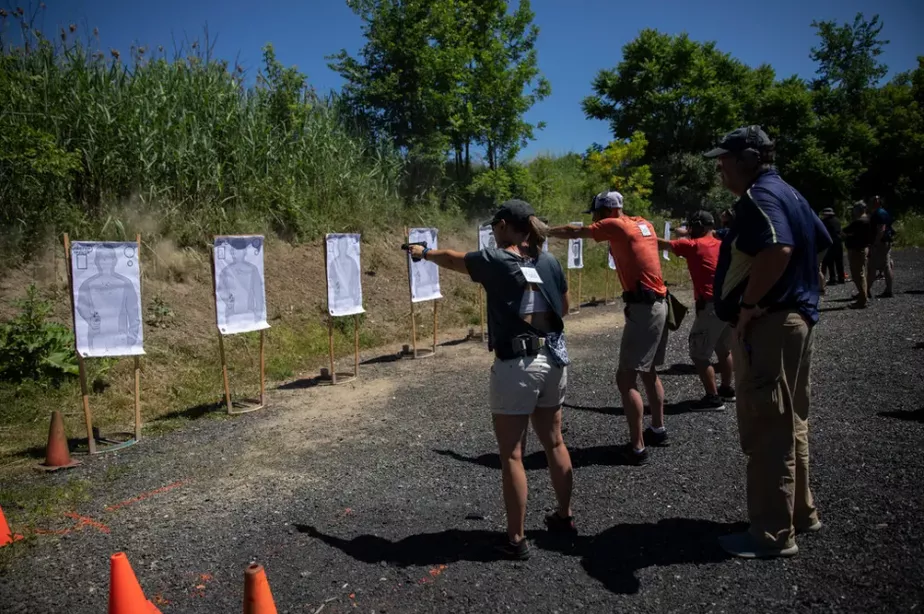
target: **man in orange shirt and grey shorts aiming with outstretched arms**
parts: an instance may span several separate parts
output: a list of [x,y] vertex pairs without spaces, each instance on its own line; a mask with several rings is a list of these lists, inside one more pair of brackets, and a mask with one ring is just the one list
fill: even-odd
[[[626,327],[619,346],[616,383],[622,397],[631,441],[626,460],[634,465],[648,462],[645,445],[666,445],[664,388],[656,367],[664,364],[667,348],[667,287],[661,276],[658,237],[654,226],[622,210],[622,194],[597,194],[585,213],[593,215],[590,226],[560,226],[549,234],[559,238],[590,238],[608,241],[626,303]],[[651,407],[651,426],[642,431],[644,405],[638,390],[641,375]]]

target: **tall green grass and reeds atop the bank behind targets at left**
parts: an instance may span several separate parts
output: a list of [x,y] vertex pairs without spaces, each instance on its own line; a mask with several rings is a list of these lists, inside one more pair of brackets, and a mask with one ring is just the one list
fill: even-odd
[[211,56],[207,33],[171,59],[145,47],[123,57],[81,42],[75,26],[52,42],[15,13],[0,19],[16,20],[22,43],[0,38],[8,248],[48,230],[138,225],[180,243],[254,222],[297,239],[401,213],[397,152],[352,130],[337,99],[317,96],[272,46],[248,84]]

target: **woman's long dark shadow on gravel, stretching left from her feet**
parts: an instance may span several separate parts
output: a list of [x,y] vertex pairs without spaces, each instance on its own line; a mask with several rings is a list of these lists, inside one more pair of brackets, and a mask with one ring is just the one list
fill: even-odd
[[296,524],[295,530],[320,539],[357,561],[376,565],[387,563],[397,567],[410,567],[456,561],[486,563],[503,559],[502,554],[494,550],[494,545],[501,543],[502,534],[497,531],[450,529],[439,533],[418,533],[391,541],[377,535],[359,535],[353,539],[343,539],[321,533],[315,527],[304,524]]

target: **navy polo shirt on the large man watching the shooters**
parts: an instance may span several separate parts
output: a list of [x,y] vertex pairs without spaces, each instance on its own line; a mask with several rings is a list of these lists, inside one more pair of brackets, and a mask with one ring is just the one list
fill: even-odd
[[715,272],[716,314],[736,322],[754,258],[773,245],[792,247],[782,277],[758,303],[769,311],[796,309],[818,321],[818,254],[831,237],[805,198],[769,170],[735,203],[735,221],[722,240]]

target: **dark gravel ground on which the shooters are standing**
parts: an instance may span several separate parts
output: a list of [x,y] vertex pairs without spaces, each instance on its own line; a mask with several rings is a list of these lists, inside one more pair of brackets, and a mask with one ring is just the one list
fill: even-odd
[[365,366],[355,385],[283,386],[267,411],[194,421],[69,474],[17,477],[85,478],[94,496],[84,520],[55,520],[64,534],[37,537],[0,575],[0,611],[104,611],[119,550],[165,614],[240,611],[251,561],[280,612],[911,611],[924,602],[924,252],[896,265],[896,298],[856,312],[852,286],[835,286],[824,301],[811,443],[826,528],[794,559],[733,560],[716,545],[744,526],[744,465],[733,407],[685,404],[701,394],[691,318],[663,375],[673,445],[647,467],[619,464],[619,308],[599,307],[569,323],[573,542],[539,531],[553,496],[531,435],[534,555],[494,560],[489,356],[466,343]]

